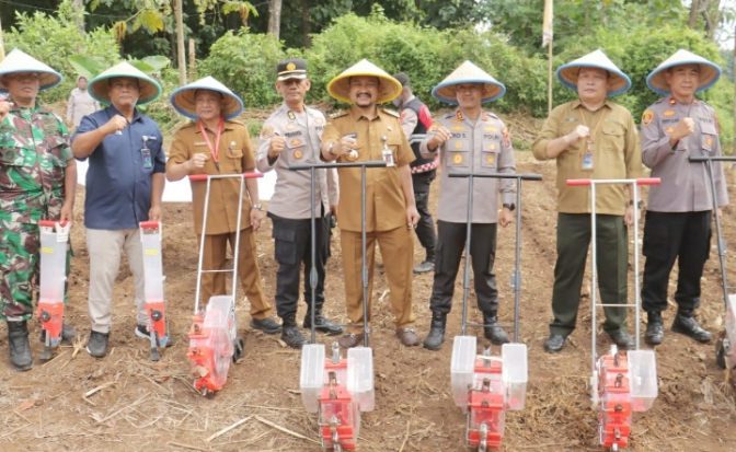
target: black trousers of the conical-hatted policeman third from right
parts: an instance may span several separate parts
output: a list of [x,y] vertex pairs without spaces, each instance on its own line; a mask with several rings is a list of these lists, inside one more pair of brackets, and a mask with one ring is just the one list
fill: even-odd
[[[429,308],[433,312],[448,314],[452,309],[455,279],[465,248],[467,224],[438,221],[437,229],[437,259]],[[493,273],[496,259],[496,223],[473,223],[470,233],[478,309],[486,313],[495,312],[498,310],[498,288],[496,274]]]

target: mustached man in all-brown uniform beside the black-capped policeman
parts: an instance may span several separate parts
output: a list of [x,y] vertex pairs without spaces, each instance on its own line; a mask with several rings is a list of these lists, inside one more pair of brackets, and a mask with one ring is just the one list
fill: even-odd
[[[361,60],[327,84],[327,92],[353,106],[333,115],[322,134],[322,158],[338,162],[386,160],[386,169],[368,169],[366,175],[366,262],[368,314],[371,311],[376,242],[381,248],[395,315],[396,336],[407,347],[419,338],[412,326],[412,230],[419,220],[414,202],[412,148],[401,128],[399,114],[378,108],[401,92],[401,83],[367,60]],[[345,300],[350,324],[363,316],[360,169],[340,169],[340,229],[345,276]],[[358,345],[363,327],[348,327],[340,339],[344,348]]]

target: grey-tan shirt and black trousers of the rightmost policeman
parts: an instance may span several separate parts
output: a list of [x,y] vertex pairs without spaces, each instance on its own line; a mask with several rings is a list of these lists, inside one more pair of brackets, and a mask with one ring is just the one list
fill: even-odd
[[[678,123],[690,117],[694,132],[670,147],[669,137]],[[642,116],[642,159],[660,185],[649,188],[644,225],[644,311],[667,309],[669,273],[679,262],[675,301],[680,310],[700,305],[700,279],[711,244],[713,195],[708,166],[690,162],[694,155],[722,155],[715,111],[702,101],[681,104],[663,97]],[[728,204],[722,162],[713,162],[716,201]]]

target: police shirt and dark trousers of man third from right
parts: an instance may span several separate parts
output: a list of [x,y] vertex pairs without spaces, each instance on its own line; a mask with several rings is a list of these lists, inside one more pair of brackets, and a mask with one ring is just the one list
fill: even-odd
[[[429,304],[433,313],[448,314],[467,237],[469,187],[468,178],[449,175],[514,173],[516,165],[508,130],[493,113],[482,112],[479,118],[470,119],[457,108],[440,117],[433,125],[433,130],[439,126],[450,130],[451,138],[434,151],[440,154],[442,171],[437,212],[437,260]],[[424,154],[430,153],[427,142],[433,136],[430,132],[421,144]],[[510,205],[515,200],[515,192],[513,179],[473,179],[470,254],[478,306],[484,313],[498,310],[498,289],[493,271],[498,221],[498,199],[495,194],[501,193],[503,204]]]

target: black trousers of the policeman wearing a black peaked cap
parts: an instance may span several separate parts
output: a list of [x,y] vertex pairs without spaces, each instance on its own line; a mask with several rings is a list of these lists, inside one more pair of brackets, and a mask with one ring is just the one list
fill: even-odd
[[[304,264],[304,301],[311,305],[312,291],[309,274],[312,269],[311,220],[291,220],[268,213],[274,222],[275,258],[278,262],[276,273],[276,313],[284,318],[297,313],[299,301],[299,273]],[[314,306],[321,309],[324,303],[324,265],[327,260],[327,218],[314,219],[317,290]]]

